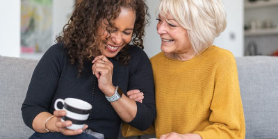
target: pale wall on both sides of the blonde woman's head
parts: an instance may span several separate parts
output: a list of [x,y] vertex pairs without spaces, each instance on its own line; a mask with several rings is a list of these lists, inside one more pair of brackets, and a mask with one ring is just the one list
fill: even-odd
[[[234,56],[243,56],[243,0],[222,0],[227,10],[227,28],[213,44],[231,51]],[[147,55],[154,56],[161,51],[161,39],[156,33],[155,10],[159,0],[147,0],[151,14],[150,26],[146,29],[144,47]]]

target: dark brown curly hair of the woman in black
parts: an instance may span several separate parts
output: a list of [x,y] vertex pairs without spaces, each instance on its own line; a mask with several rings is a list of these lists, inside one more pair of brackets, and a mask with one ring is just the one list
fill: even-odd
[[[63,28],[63,32],[56,38],[57,42],[64,42],[69,50],[70,64],[76,64],[79,74],[82,72],[84,60],[92,60],[93,56],[100,54],[99,36],[97,29],[101,26],[103,19],[113,27],[113,19],[121,12],[121,7],[131,8],[136,11],[136,22],[133,28],[132,43],[144,49],[142,38],[145,35],[145,26],[149,24],[148,7],[145,0],[83,0],[76,4],[72,17]],[[110,37],[108,31],[106,40]],[[128,65],[130,56],[124,47],[115,59],[122,64]]]

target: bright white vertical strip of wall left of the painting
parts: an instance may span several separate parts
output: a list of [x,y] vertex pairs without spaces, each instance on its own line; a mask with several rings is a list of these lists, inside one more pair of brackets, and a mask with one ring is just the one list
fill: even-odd
[[0,55],[20,56],[20,0],[1,1]]

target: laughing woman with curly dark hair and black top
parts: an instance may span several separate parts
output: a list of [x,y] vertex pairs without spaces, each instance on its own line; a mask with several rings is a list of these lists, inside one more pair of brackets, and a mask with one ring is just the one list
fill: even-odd
[[[142,51],[147,10],[145,0],[76,5],[35,68],[22,104],[24,122],[35,131],[31,138],[117,138],[122,121],[142,131],[152,124],[152,66]],[[61,121],[66,112],[54,111],[56,99],[67,97],[92,105],[83,129],[67,129],[73,121]]]

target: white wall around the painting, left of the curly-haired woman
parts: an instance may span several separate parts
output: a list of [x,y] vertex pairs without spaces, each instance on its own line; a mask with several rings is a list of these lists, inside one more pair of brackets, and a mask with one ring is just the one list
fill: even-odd
[[[20,11],[21,0],[1,1],[0,5],[0,55],[40,59],[42,54],[20,54]],[[75,0],[54,0],[53,4],[53,37],[62,31],[67,23]],[[51,47],[51,46],[49,46]]]

